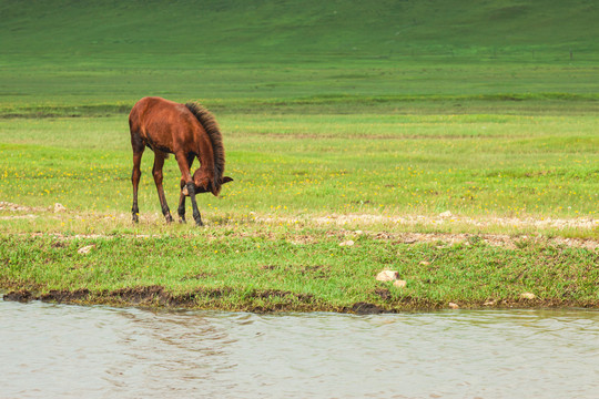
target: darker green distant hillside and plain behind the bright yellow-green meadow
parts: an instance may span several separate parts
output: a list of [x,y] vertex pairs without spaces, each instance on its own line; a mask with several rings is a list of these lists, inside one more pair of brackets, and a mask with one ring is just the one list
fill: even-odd
[[2,0],[0,14],[8,114],[126,109],[146,94],[214,104],[599,93],[590,0]]

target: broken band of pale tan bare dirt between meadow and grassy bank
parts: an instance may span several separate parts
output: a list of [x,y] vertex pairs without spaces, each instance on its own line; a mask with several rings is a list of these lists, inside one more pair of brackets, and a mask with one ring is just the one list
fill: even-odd
[[[57,204],[55,204],[57,205]],[[0,211],[16,212],[20,214],[9,214],[0,216],[0,219],[16,219],[16,218],[35,218],[39,217],[39,213],[50,212],[51,208],[39,208],[23,206],[9,202],[0,202]],[[81,215],[73,214],[70,211],[64,211],[70,214],[69,217],[80,218]],[[97,217],[100,219],[114,219],[114,216],[105,216],[103,214],[93,214],[90,217]],[[54,215],[54,218],[60,218],[64,216]],[[118,219],[129,221],[129,214],[116,215]],[[162,215],[149,213],[145,216],[145,222],[149,224],[162,224]],[[494,217],[494,216],[480,216],[480,217],[467,217],[460,215],[454,215],[450,212],[444,212],[438,215],[372,215],[372,214],[329,214],[318,217],[302,217],[301,219],[294,217],[276,217],[276,216],[258,216],[253,214],[253,222],[257,224],[288,224],[295,225],[300,223],[301,225],[308,226],[337,226],[342,227],[331,229],[329,236],[338,236],[339,239],[345,237],[356,239],[358,235],[367,235],[368,237],[375,237],[377,239],[392,239],[396,243],[412,244],[412,243],[435,243],[440,242],[445,245],[453,245],[457,243],[470,244],[474,241],[481,241],[488,245],[502,246],[509,248],[517,248],[522,244],[537,243],[542,245],[562,245],[569,247],[580,247],[587,249],[599,249],[599,241],[593,236],[593,232],[599,229],[599,219],[592,217],[578,217],[578,218],[532,218],[532,217]],[[362,231],[351,231],[343,229],[348,226],[355,226],[354,228],[363,228]],[[359,227],[358,227],[359,226]],[[493,231],[493,227],[504,227],[508,228],[527,228],[532,231],[541,231],[544,228],[550,229],[551,234],[556,236],[548,238],[541,234],[535,236],[514,236],[508,234],[468,234],[468,233],[386,233],[380,231],[370,231],[367,232],[366,228],[387,228],[390,231],[397,231],[398,226],[414,226],[409,231],[414,229],[447,229],[447,227],[456,226],[458,231],[470,231],[468,226],[476,227],[474,231]],[[438,227],[438,228],[437,228]],[[317,235],[312,235],[302,231],[290,229],[283,238],[281,235],[274,234],[273,232],[262,231],[260,227],[255,231],[240,231],[233,225],[212,225],[211,229],[215,232],[214,235],[209,235],[207,239],[220,239],[222,238],[219,232],[223,229],[227,231],[227,235],[235,237],[263,237],[265,239],[280,241],[285,239],[292,245],[312,245],[316,244],[321,237]],[[588,231],[588,236],[592,238],[567,238],[560,237],[559,232],[568,228],[578,228]],[[405,229],[405,228],[403,228]],[[453,229],[453,228],[451,228]],[[229,234],[231,233],[231,234]],[[60,241],[72,241],[72,239],[112,239],[114,237],[132,237],[132,238],[160,238],[161,235],[141,235],[141,234],[118,234],[118,235],[108,235],[108,234],[77,234],[77,235],[64,235],[62,233],[21,233],[19,235],[23,236],[53,236]],[[587,234],[585,233],[587,236]]]

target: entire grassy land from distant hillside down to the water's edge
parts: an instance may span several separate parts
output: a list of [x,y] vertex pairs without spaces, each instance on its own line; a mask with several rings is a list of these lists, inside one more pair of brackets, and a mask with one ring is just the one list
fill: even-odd
[[[0,287],[232,310],[599,305],[592,2],[54,6],[0,2]],[[144,95],[221,124],[235,182],[200,196],[206,228],[163,222],[151,151],[130,222]],[[173,211],[177,185],[171,158]]]

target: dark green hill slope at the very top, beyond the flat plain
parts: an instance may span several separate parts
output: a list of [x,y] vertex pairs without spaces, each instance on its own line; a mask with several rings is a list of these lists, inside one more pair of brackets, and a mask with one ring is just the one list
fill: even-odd
[[[53,4],[49,7],[49,4]],[[599,4],[552,1],[1,1],[10,55],[597,57]]]

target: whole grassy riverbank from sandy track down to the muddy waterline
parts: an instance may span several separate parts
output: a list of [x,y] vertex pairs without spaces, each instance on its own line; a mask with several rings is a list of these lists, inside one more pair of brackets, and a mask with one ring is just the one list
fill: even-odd
[[[10,300],[244,311],[599,307],[593,239],[362,228],[3,234],[0,287]],[[376,280],[384,269],[405,286]]]

